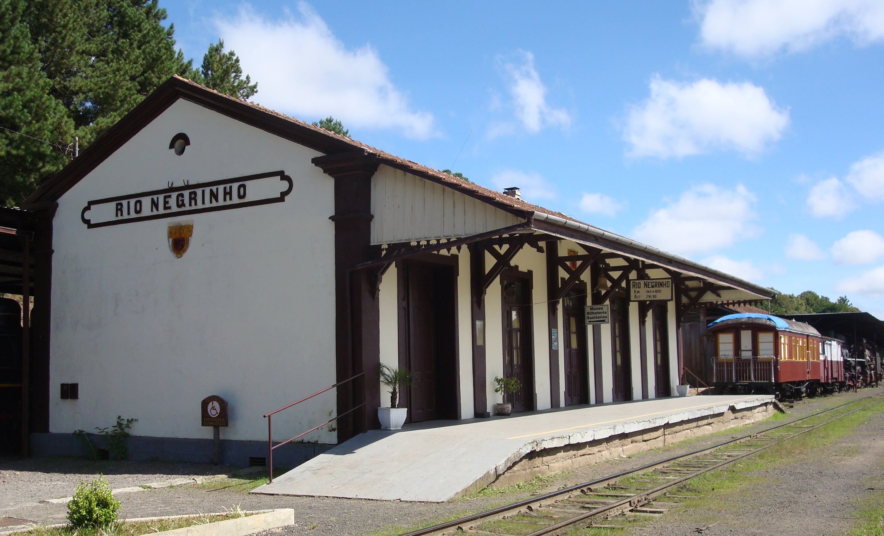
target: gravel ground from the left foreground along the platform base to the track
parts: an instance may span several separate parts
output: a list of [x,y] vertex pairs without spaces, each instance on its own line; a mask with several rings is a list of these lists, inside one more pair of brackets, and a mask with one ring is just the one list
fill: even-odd
[[[831,407],[851,399],[884,392],[880,389],[863,389],[857,394],[845,393],[817,399],[796,402],[789,410],[797,417],[812,411]],[[738,433],[766,427],[760,423],[740,429]],[[608,460],[583,467],[570,474],[552,479],[551,485],[533,493],[545,493],[561,486],[570,486],[596,479],[616,471],[623,471],[644,463],[673,456],[676,453],[712,444],[736,435],[737,431],[725,431],[695,440],[682,441],[667,448],[659,448],[640,453],[629,458]],[[882,441],[884,443],[884,441]],[[65,521],[64,504],[40,503],[40,500],[70,496],[80,479],[103,472],[108,475],[111,486],[141,486],[164,479],[175,479],[194,475],[212,475],[223,471],[212,465],[196,463],[119,463],[84,462],[70,459],[29,459],[0,460],[0,516],[14,516],[41,523],[62,523]],[[835,477],[840,478],[840,477]],[[827,475],[818,478],[819,486],[824,486]],[[498,494],[454,500],[445,503],[428,502],[380,502],[357,499],[335,499],[324,497],[286,497],[247,494],[225,487],[225,483],[201,486],[175,486],[164,489],[145,490],[135,494],[120,495],[123,503],[122,517],[149,517],[191,513],[224,511],[234,505],[242,509],[293,508],[297,525],[276,533],[286,535],[310,534],[312,536],[356,535],[373,532],[390,525],[408,527],[426,523],[440,517],[462,515],[467,511],[477,511],[493,506],[514,502],[530,495],[528,491]],[[687,525],[694,523],[686,522]],[[687,526],[685,525],[685,526]],[[690,526],[690,531],[697,533]],[[642,534],[650,533],[647,530]],[[664,532],[659,532],[664,533]],[[681,532],[665,532],[681,533]],[[703,532],[712,534],[713,532]],[[732,533],[732,532],[731,532]],[[762,532],[763,533],[763,532]],[[807,532],[805,532],[806,534]]]

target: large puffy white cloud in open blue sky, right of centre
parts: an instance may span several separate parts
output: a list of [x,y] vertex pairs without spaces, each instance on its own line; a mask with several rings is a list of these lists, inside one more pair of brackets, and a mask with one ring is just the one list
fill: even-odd
[[623,139],[630,157],[685,157],[713,149],[751,157],[789,126],[789,111],[750,82],[682,83],[654,76],[650,88],[651,96],[629,110]]

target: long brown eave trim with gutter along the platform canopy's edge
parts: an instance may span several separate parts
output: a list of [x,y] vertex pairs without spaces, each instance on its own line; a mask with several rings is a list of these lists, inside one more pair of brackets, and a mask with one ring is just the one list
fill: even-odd
[[[601,236],[596,236],[594,234],[589,233],[581,233],[576,229],[570,229],[564,226],[557,226],[545,220],[537,220],[533,221],[533,227],[537,231],[543,231],[547,234],[553,234],[555,236],[559,236],[560,238],[565,238],[573,241],[583,241],[584,243],[589,243],[592,246],[607,249],[609,251],[613,251],[615,253],[620,253],[621,255],[626,255],[628,257],[632,257],[638,260],[642,260],[645,262],[649,262],[652,264],[656,264],[661,268],[668,268],[672,270],[677,270],[679,272],[697,276],[699,278],[705,279],[707,281],[718,283],[720,285],[724,285],[729,289],[742,290],[743,292],[748,292],[753,295],[761,296],[760,299],[771,299],[773,295],[769,295],[767,293],[761,292],[760,289],[750,289],[745,287],[742,283],[737,282],[735,280],[728,280],[728,278],[722,278],[719,274],[713,272],[707,272],[697,266],[692,266],[689,264],[682,264],[672,258],[659,255],[657,253],[653,253],[652,251],[646,251],[643,249],[632,248],[627,244],[621,244],[619,242],[608,240]],[[611,271],[617,271],[617,268],[620,266],[612,266]],[[697,287],[697,290],[699,287]]]

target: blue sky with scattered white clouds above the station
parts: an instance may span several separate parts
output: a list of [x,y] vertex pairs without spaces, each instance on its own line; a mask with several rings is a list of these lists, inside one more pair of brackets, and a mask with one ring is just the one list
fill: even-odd
[[253,101],[884,318],[884,5],[160,0]]

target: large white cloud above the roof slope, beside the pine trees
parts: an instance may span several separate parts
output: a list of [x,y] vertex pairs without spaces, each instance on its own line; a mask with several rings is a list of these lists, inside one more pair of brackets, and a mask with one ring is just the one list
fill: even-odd
[[377,50],[347,50],[309,4],[300,19],[263,19],[247,6],[217,19],[227,50],[258,81],[255,100],[274,110],[310,118],[328,115],[347,127],[393,128],[412,138],[434,134],[433,116],[413,111],[390,80]]

